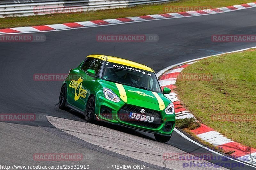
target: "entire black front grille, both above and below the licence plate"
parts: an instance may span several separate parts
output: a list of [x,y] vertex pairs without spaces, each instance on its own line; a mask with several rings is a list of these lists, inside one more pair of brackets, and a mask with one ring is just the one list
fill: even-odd
[[[141,109],[145,110],[145,114],[143,115],[147,115],[147,116],[151,116],[151,117],[155,117],[155,118],[161,118],[161,113],[155,110],[151,110],[151,109],[146,109],[143,107],[138,107],[138,106],[133,106],[133,105],[124,105],[121,109],[128,111],[128,112],[133,112],[133,113],[138,113],[141,114],[140,111]],[[124,122],[128,122],[128,123],[132,123],[132,124],[136,124],[136,125],[140,125],[140,126],[145,126],[145,127],[149,127],[149,128],[159,128],[161,126],[161,124],[155,124],[155,123],[150,123],[150,122],[143,122],[143,121],[139,121],[139,120],[134,120],[134,119],[127,119],[129,116],[129,113],[125,114],[124,113],[118,113],[119,119],[124,121]]]

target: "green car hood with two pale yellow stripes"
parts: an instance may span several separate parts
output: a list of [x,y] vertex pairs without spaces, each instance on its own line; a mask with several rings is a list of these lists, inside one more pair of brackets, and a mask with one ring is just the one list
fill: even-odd
[[128,104],[137,106],[151,105],[152,107],[156,105],[158,108],[157,110],[164,110],[164,108],[170,103],[170,100],[162,93],[151,92],[129,85],[121,85],[109,81],[104,81],[104,84]]

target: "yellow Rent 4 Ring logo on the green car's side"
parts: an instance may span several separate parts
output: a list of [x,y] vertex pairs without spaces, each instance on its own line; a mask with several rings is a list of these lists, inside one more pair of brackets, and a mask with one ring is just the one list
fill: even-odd
[[80,98],[86,97],[87,91],[82,88],[83,85],[83,79],[80,77],[77,81],[76,80],[71,80],[69,87],[72,87],[75,89],[75,101]]

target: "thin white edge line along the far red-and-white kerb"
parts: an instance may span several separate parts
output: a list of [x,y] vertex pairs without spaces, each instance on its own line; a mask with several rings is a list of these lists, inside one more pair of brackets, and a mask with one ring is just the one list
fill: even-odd
[[[205,15],[213,15],[213,14],[221,14],[226,12],[233,12],[233,11],[239,11],[239,10],[245,10],[249,8],[255,8],[256,6],[251,6],[244,9],[237,9],[232,11],[223,11],[223,12],[217,12],[217,13],[210,13],[210,14],[202,14],[202,15],[192,15],[192,16],[184,16],[184,17],[173,17],[173,18],[159,18],[159,19],[152,19],[152,20],[143,20],[143,21],[130,21],[130,22],[123,22],[123,23],[116,23],[116,24],[108,24],[108,25],[98,25],[98,26],[113,26],[113,25],[120,25],[120,24],[130,24],[130,23],[136,23],[136,22],[146,22],[146,21],[155,21],[155,20],[163,20],[163,19],[178,19],[178,18],[188,18],[188,17],[199,17],[199,16],[205,16]],[[185,11],[186,12],[186,11]],[[148,15],[146,15],[148,16]],[[128,18],[128,17],[126,17]],[[110,19],[118,19],[118,18],[110,18]],[[85,21],[84,21],[85,22]],[[75,22],[76,23],[76,22]],[[66,24],[66,23],[64,23]],[[45,25],[44,25],[45,26]],[[21,33],[2,33],[0,35],[5,34],[23,34],[23,33],[41,33],[41,32],[54,32],[54,31],[66,31],[66,30],[74,30],[74,29],[82,29],[82,28],[91,28],[91,27],[98,27],[98,26],[84,26],[84,27],[78,27],[78,28],[67,28],[67,29],[61,29],[61,30],[49,30],[49,31],[34,31],[34,32],[21,32]],[[12,28],[10,28],[12,29]]]

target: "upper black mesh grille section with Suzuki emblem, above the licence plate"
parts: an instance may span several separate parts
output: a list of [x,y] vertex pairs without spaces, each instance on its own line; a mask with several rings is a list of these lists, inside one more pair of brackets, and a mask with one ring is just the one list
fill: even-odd
[[156,110],[146,109],[146,108],[143,108],[143,107],[138,107],[138,106],[133,106],[133,105],[124,105],[122,107],[122,109],[127,110],[129,112],[138,113],[138,114],[141,114],[140,110],[144,109],[145,110],[145,115],[151,116],[151,117],[161,118],[161,113],[156,111]]

